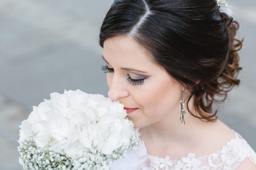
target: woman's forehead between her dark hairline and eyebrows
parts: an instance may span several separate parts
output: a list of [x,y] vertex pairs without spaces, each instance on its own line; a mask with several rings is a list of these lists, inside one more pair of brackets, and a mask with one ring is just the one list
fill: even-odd
[[[104,41],[103,56],[106,61],[114,66],[115,64],[125,67],[141,64],[153,66],[152,56],[148,50],[128,36],[115,36]],[[114,64],[114,65],[113,65]]]

